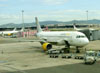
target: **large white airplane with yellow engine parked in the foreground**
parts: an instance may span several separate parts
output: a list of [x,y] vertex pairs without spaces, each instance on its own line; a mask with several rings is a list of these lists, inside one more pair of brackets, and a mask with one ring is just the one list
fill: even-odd
[[44,51],[52,49],[52,45],[65,45],[65,49],[70,46],[76,46],[76,52],[79,52],[78,47],[83,47],[89,43],[85,34],[78,31],[43,31],[35,17],[37,25],[36,36],[40,39],[40,43]]

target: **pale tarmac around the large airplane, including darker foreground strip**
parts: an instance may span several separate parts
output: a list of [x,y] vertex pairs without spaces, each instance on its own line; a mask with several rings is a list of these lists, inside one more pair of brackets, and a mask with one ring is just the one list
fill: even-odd
[[[99,73],[99,62],[84,65],[82,60],[49,58],[39,42],[18,42],[36,38],[0,38],[0,73]],[[100,50],[100,41],[85,48]],[[54,48],[56,48],[54,46]],[[91,70],[90,70],[91,69]]]

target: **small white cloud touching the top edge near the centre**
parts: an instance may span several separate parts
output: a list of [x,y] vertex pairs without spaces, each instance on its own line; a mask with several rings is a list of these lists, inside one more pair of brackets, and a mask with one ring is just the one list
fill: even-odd
[[65,4],[68,0],[43,0],[43,3],[46,5],[62,5]]

